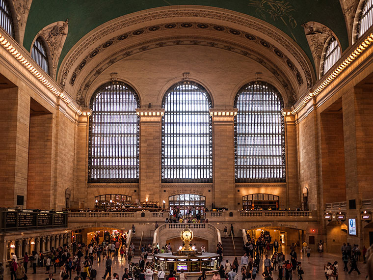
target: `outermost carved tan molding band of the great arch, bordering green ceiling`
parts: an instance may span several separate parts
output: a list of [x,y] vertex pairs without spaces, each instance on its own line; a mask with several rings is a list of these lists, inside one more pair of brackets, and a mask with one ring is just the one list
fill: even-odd
[[107,38],[108,41],[108,36],[110,34],[118,33],[120,30],[128,30],[131,26],[136,26],[136,28],[138,28],[139,25],[151,25],[151,22],[154,23],[155,21],[165,22],[167,19],[181,21],[186,18],[189,20],[213,20],[216,24],[218,24],[218,22],[225,22],[230,26],[240,26],[241,29],[249,29],[255,31],[255,33],[261,33],[268,38],[267,41],[271,40],[274,44],[279,45],[279,48],[284,49],[290,56],[293,56],[291,60],[293,63],[300,65],[308,87],[314,84],[315,74],[308,57],[301,48],[281,30],[251,16],[223,9],[210,9],[208,7],[163,7],[161,10],[150,9],[144,11],[142,14],[136,14],[135,16],[127,15],[107,22],[84,36],[76,46],[69,51],[58,71],[58,82],[63,87],[66,85],[68,76],[70,75],[71,77],[71,75],[73,75],[72,69],[75,69],[78,63],[80,63],[79,60],[87,55],[87,50],[94,50],[97,47],[99,39]]

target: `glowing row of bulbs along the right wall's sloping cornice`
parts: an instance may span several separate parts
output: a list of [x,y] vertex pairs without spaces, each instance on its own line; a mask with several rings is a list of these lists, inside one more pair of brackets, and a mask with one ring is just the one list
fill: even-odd
[[313,92],[310,92],[302,102],[295,107],[292,114],[296,114],[306,106],[308,101],[313,97],[317,96],[328,84],[330,84],[345,68],[354,61],[360,54],[369,47],[373,42],[373,33],[371,33],[367,39],[365,39],[347,58],[335,69],[325,80],[320,84]]

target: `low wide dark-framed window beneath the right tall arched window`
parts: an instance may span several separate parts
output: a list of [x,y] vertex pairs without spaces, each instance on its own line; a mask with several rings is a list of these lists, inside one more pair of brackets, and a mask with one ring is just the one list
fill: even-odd
[[278,206],[278,196],[269,194],[242,196],[242,210],[278,210]]

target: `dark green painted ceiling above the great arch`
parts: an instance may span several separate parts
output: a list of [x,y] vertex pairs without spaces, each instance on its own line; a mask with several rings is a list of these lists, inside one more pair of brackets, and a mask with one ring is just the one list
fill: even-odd
[[304,29],[316,21],[332,29],[342,49],[348,46],[346,24],[339,0],[33,0],[28,14],[24,47],[30,50],[35,35],[56,21],[69,20],[69,32],[59,63],[89,31],[117,17],[169,5],[202,5],[254,16],[288,34],[313,61]]

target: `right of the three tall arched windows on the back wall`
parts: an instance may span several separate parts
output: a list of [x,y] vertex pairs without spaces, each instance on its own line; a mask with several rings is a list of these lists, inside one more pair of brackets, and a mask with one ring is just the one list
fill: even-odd
[[236,95],[236,182],[285,182],[283,101],[270,84],[253,82]]

